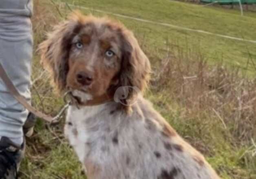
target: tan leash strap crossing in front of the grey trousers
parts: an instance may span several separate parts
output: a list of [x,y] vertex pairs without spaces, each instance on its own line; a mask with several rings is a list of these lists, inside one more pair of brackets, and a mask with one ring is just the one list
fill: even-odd
[[38,116],[39,118],[42,118],[46,120],[47,122],[53,122],[53,118],[51,116],[48,116],[46,114],[43,114],[41,111],[38,111],[34,107],[32,107],[26,99],[20,95],[18,90],[15,88],[11,80],[9,79],[7,73],[5,72],[4,68],[2,67],[2,64],[0,63],[0,77],[4,81],[5,85],[9,89],[9,92],[13,95],[13,97],[20,102],[26,109],[28,109],[31,113],[35,114],[35,116]]

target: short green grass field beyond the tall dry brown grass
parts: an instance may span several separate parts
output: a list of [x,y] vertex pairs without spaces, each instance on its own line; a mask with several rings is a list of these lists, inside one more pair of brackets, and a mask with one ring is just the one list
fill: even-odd
[[[186,4],[168,0],[62,0],[91,9],[99,9],[111,13],[119,13],[132,17],[143,18],[211,33],[228,35],[242,39],[256,40],[256,18],[251,15],[241,16],[238,11],[218,8],[205,8],[199,5]],[[79,9],[79,8],[77,8]],[[84,13],[96,13],[85,11]],[[250,13],[251,14],[251,13]],[[117,18],[117,17],[115,17]],[[166,26],[153,25],[121,17],[118,19],[128,28],[135,31],[139,37],[146,37],[147,45],[154,50],[165,46],[168,39],[173,44],[179,44],[200,49],[210,62],[224,60],[226,63],[246,68],[248,59],[256,63],[256,44],[205,35],[197,32],[184,31]],[[144,39],[145,40],[145,39]],[[247,67],[255,71],[252,63]],[[254,73],[254,72],[253,72]]]

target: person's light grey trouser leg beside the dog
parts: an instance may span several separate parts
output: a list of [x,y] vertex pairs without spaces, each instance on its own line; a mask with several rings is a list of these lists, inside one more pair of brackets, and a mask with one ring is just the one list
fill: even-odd
[[[20,94],[31,100],[32,0],[0,0],[0,63]],[[0,137],[22,144],[28,111],[0,79]]]

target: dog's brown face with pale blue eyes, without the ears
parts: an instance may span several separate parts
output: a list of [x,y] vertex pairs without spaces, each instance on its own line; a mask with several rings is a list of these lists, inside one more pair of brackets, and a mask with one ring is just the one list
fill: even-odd
[[121,45],[120,37],[108,24],[85,24],[71,39],[68,88],[85,92],[93,98],[104,95],[111,85],[117,85]]

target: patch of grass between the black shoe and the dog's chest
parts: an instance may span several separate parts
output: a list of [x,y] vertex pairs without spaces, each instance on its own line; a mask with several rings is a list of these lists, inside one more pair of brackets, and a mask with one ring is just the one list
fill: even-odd
[[81,174],[82,166],[70,146],[63,140],[62,132],[57,133],[59,136],[56,138],[40,124],[35,130],[38,133],[27,140],[28,156],[22,162],[21,171],[24,179],[85,178]]

